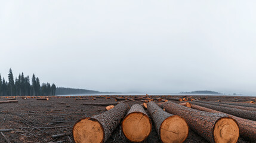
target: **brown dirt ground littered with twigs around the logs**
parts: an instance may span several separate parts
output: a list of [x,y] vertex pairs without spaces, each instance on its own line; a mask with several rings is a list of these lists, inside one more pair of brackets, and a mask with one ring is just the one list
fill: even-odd
[[[87,100],[76,100],[79,97],[49,97],[48,101],[28,98],[23,100],[17,97],[18,102],[0,104],[0,142],[73,142],[72,128],[75,122],[83,117],[90,117],[106,111],[104,106],[82,105],[84,102],[115,102],[115,96],[110,99],[100,97],[86,97]],[[169,98],[171,96],[160,96]],[[173,96],[172,96],[173,97]],[[190,95],[189,95],[190,97]],[[207,98],[209,101],[232,101],[251,100],[255,97],[232,97],[232,96],[195,96]],[[0,101],[6,99],[0,97]],[[95,100],[92,100],[95,99]],[[155,101],[161,102],[161,101]],[[175,101],[174,101],[175,102]],[[178,101],[177,101],[178,102]],[[141,104],[140,100],[128,101],[132,104]],[[207,142],[201,136],[189,130],[186,143]],[[64,136],[53,138],[52,135],[65,133]],[[107,142],[129,142],[118,126]],[[152,132],[143,142],[161,142],[152,124]],[[239,142],[249,142],[239,138]]]

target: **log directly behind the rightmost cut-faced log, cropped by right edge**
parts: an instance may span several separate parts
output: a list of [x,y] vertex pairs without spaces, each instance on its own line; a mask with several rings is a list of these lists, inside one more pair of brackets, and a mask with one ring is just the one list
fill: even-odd
[[[221,111],[212,110],[210,108],[205,108],[195,104],[192,104],[191,107],[197,110],[207,111],[211,113],[223,113]],[[226,114],[226,113],[223,113],[223,114]],[[227,114],[227,116],[232,117],[233,119],[236,120],[236,122],[238,122],[241,136],[251,140],[252,142],[256,142],[256,122],[255,121],[236,117],[231,114]]]

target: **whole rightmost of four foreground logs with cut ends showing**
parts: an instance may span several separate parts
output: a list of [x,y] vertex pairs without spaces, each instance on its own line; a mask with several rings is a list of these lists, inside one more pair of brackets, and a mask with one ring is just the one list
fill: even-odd
[[209,142],[237,142],[239,127],[236,120],[226,114],[209,113],[187,108],[174,102],[161,104],[168,113],[183,117],[190,128]]

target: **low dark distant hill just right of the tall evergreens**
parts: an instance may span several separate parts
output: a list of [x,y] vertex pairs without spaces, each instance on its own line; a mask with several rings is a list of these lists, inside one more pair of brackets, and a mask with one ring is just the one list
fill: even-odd
[[70,94],[114,94],[115,92],[100,92],[92,91],[87,89],[78,89],[78,88],[56,88],[56,95],[70,95]]

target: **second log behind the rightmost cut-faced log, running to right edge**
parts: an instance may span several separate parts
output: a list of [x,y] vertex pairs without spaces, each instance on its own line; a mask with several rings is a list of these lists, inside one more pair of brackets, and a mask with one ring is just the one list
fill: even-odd
[[234,116],[242,117],[249,120],[256,120],[256,111],[241,110],[238,108],[221,107],[217,105],[204,104],[201,102],[189,101],[190,104],[200,105],[202,107],[211,108],[213,110],[221,111]]

